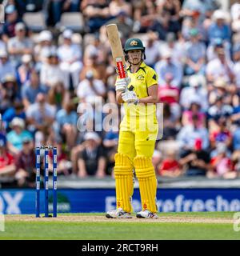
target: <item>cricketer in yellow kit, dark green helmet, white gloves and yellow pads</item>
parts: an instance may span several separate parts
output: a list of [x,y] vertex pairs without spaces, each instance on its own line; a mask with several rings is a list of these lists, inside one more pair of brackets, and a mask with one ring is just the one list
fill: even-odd
[[[107,218],[131,218],[131,198],[134,193],[134,171],[139,182],[142,211],[138,218],[158,218],[156,206],[157,179],[151,159],[158,135],[156,104],[158,77],[146,66],[145,47],[138,38],[126,40],[124,52],[128,78],[115,84],[118,104],[124,105],[125,115],[120,124],[118,153],[115,154],[116,210]],[[126,90],[127,89],[127,90]]]

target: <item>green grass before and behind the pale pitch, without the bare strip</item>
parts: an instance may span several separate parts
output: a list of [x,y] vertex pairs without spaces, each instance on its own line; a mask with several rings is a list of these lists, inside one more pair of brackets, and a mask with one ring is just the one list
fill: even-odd
[[[71,214],[76,215],[76,214]],[[77,214],[103,215],[103,214]],[[233,213],[169,213],[164,217],[232,218]],[[81,217],[80,217],[81,218]],[[232,224],[157,222],[23,222],[7,220],[1,239],[240,239]]]

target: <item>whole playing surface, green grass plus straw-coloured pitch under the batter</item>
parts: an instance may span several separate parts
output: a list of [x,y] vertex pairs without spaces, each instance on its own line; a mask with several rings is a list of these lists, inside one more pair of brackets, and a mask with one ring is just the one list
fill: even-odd
[[5,215],[2,239],[240,239],[231,212],[164,213],[156,219],[107,219],[104,214],[59,214],[58,218]]

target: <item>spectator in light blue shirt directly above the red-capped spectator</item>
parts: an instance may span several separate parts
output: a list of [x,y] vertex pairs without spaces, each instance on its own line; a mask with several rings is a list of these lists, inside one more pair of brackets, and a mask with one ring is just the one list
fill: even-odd
[[178,133],[177,140],[181,143],[183,150],[194,148],[197,138],[201,138],[201,149],[206,150],[209,146],[208,131],[205,127],[198,127],[198,115],[192,117],[191,125],[183,126]]

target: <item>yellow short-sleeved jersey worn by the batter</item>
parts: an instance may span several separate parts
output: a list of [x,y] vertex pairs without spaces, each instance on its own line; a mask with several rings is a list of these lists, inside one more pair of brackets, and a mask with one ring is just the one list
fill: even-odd
[[[127,74],[131,79],[128,90],[133,90],[138,98],[148,97],[148,88],[158,84],[158,75],[150,66],[142,62],[136,73],[130,72],[130,66],[127,68]],[[144,130],[145,127],[154,129],[158,124],[156,118],[155,104],[127,104],[124,103],[125,116],[121,123],[123,130]],[[150,130],[147,129],[147,130]]]

